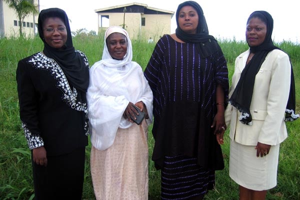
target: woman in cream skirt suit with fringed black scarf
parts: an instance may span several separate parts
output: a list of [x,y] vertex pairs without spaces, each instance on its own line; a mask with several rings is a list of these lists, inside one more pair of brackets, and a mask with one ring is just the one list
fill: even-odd
[[254,11],[246,24],[249,49],[235,60],[226,124],[230,123],[229,175],[240,199],[264,199],[276,185],[279,144],[287,137],[284,120],[295,114],[295,89],[288,55],[274,46],[273,19]]

